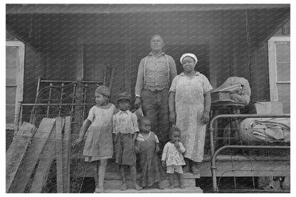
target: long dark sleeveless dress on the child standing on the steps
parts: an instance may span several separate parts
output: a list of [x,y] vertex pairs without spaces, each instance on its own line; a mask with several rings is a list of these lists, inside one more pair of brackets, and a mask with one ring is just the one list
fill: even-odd
[[136,144],[139,149],[139,166],[142,170],[141,184],[143,187],[152,186],[153,183],[162,181],[166,173],[162,169],[162,164],[157,156],[157,138],[154,132],[149,132],[147,139],[142,138],[144,141],[139,141],[139,135]]

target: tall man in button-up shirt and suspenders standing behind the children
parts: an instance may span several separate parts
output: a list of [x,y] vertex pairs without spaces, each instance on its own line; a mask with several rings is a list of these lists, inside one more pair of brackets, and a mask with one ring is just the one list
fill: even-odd
[[163,147],[169,140],[169,87],[176,77],[176,64],[162,51],[162,36],[152,36],[150,47],[152,52],[139,63],[134,107],[142,105],[144,115],[152,123],[152,132]]

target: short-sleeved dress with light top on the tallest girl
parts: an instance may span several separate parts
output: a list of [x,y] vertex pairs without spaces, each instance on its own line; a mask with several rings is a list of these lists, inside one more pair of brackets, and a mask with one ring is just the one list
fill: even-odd
[[95,105],[90,109],[88,119],[92,124],[88,128],[88,137],[83,149],[85,161],[112,158],[112,115],[115,113],[116,107],[111,103],[108,105],[109,107],[106,108]]

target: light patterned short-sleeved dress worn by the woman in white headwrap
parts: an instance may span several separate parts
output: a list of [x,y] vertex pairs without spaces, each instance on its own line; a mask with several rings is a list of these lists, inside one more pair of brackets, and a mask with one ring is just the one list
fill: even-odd
[[206,138],[206,124],[201,123],[203,94],[212,89],[206,76],[196,72],[191,78],[184,73],[177,75],[169,90],[176,92],[176,126],[181,129],[181,142],[186,148],[184,157],[196,162],[203,160]]

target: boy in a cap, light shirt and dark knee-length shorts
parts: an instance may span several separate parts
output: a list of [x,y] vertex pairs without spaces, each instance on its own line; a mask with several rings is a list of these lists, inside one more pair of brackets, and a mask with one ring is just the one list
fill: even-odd
[[125,179],[125,166],[129,166],[132,183],[136,190],[141,190],[137,184],[136,152],[134,141],[139,132],[137,116],[129,111],[131,95],[128,92],[122,92],[117,95],[117,102],[120,110],[113,115],[113,134],[115,134],[115,162],[120,166],[120,175],[122,186],[120,190],[127,189]]

